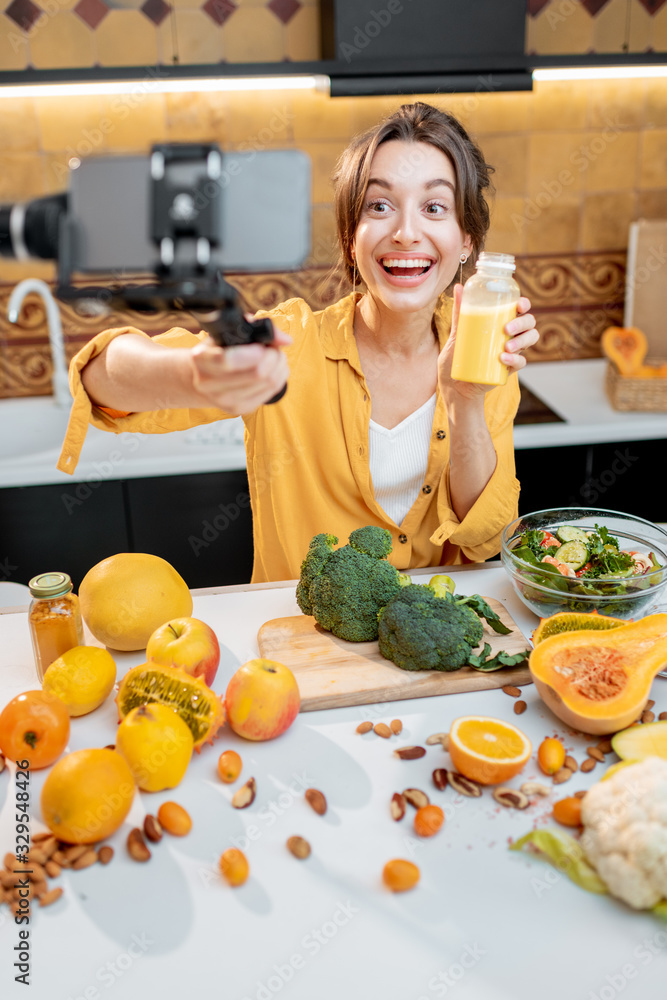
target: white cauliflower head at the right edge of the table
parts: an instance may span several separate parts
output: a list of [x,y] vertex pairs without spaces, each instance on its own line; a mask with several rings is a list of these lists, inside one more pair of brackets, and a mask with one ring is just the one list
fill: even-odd
[[609,892],[636,910],[667,899],[667,760],[621,768],[582,801],[581,846]]

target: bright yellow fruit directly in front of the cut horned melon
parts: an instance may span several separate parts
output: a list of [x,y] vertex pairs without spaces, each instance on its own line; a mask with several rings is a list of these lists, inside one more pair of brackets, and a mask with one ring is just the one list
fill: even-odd
[[194,747],[190,727],[168,705],[138,705],[116,730],[116,750],[138,788],[161,792],[183,778]]

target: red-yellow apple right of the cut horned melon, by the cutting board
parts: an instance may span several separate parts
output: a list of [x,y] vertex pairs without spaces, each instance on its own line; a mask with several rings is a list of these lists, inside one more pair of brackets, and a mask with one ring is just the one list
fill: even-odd
[[227,722],[247,740],[272,740],[294,722],[301,705],[289,667],[275,660],[249,660],[225,692]]

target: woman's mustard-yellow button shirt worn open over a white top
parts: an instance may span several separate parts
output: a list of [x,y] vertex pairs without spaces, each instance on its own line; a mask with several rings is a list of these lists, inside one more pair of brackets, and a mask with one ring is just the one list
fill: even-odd
[[[498,553],[500,533],[517,516],[512,423],[519,403],[515,374],[485,397],[485,418],[498,458],[486,488],[463,521],[449,494],[449,430],[437,393],[424,485],[398,527],[378,506],[368,464],[371,400],[353,333],[353,296],[313,312],[290,299],[270,312],[293,343],[286,349],[290,376],[285,396],[245,416],[245,445],[253,517],[253,583],[294,580],[313,535],[346,542],[355,528],[377,524],[392,535],[390,561],[399,569],[481,562]],[[451,302],[436,315],[440,345],[449,334]],[[73,472],[88,423],[115,433],[161,434],[224,419],[215,408],[122,414],[91,406],[81,370],[132,327],[98,334],[73,358],[74,403],[58,468]],[[147,334],[142,334],[147,336]],[[193,347],[205,334],[174,328],[153,338]]]

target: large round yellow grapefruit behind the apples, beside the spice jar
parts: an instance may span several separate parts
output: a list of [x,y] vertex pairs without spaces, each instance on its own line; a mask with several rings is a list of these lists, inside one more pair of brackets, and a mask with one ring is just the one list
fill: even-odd
[[192,595],[174,567],[145,552],[119,552],[89,569],[79,587],[81,614],[110,649],[145,649],[170,618],[192,615]]

